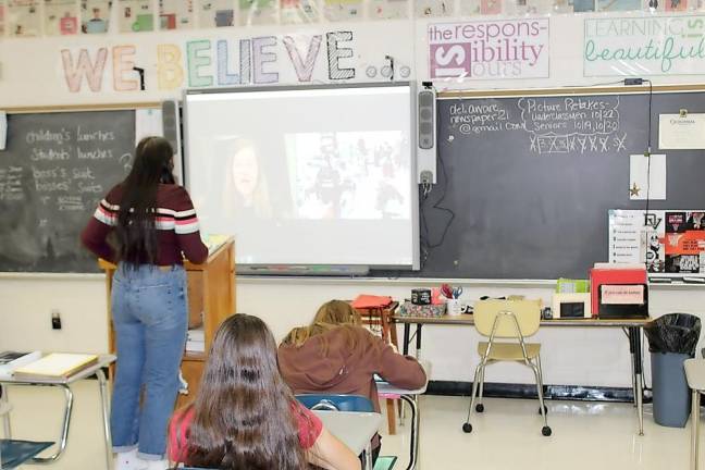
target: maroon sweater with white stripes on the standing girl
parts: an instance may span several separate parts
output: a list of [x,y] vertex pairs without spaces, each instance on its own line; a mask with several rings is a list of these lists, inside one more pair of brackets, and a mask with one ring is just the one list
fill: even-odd
[[[115,252],[107,238],[118,223],[122,194],[122,184],[113,187],[81,234],[81,240],[90,251],[111,262],[116,261]],[[201,242],[196,210],[186,189],[178,185],[159,185],[156,225],[159,243],[157,264],[182,264],[182,252],[191,262],[206,261],[208,248]],[[147,260],[141,262],[147,263]]]

